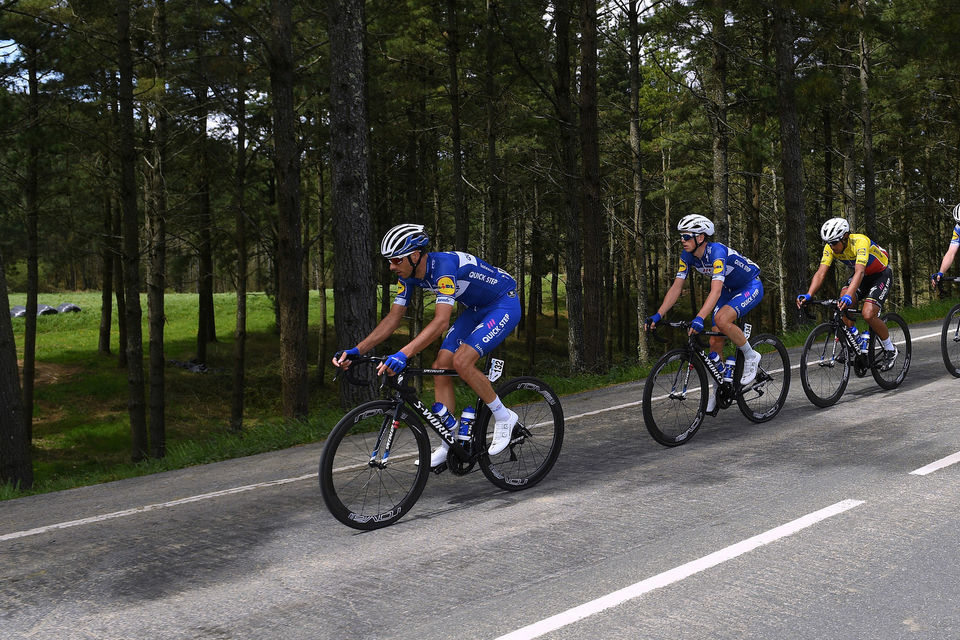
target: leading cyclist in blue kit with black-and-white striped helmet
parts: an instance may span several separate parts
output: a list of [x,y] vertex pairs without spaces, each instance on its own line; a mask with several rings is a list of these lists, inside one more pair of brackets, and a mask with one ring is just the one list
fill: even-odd
[[[387,231],[380,243],[380,253],[390,261],[390,271],[399,277],[397,296],[390,312],[370,335],[357,346],[340,351],[333,364],[350,366],[349,356],[361,355],[377,346],[400,326],[410,291],[420,287],[437,295],[433,320],[400,351],[387,358],[377,373],[395,375],[407,366],[407,359],[423,351],[447,329],[435,369],[456,369],[470,388],[490,407],[496,424],[493,442],[487,452],[496,455],[510,444],[517,414],[504,406],[493,386],[480,369],[477,360],[489,353],[510,335],[520,322],[521,304],[517,298],[517,282],[503,269],[493,267],[476,256],[462,251],[431,252],[425,249],[430,238],[423,225],[401,224]],[[463,305],[453,327],[450,318],[456,302]],[[435,378],[436,401],[452,414],[455,408],[453,379]],[[430,457],[436,467],[447,459],[449,445],[441,441]]]

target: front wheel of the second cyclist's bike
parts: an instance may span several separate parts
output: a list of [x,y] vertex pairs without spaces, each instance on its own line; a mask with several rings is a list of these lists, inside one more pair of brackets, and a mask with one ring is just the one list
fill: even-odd
[[[688,377],[691,366],[696,380]],[[696,397],[690,398],[689,390]],[[689,350],[665,353],[643,386],[643,422],[650,436],[665,447],[689,442],[703,423],[709,391],[707,371],[700,360],[690,359]],[[693,402],[688,401],[691,399]]]

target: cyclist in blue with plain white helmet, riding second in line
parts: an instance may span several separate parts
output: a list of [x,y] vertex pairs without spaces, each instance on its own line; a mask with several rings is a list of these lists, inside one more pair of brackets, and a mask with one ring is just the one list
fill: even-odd
[[[664,314],[676,304],[683,290],[683,283],[690,270],[711,278],[710,293],[703,301],[700,311],[693,318],[689,333],[699,333],[705,326],[713,331],[722,332],[743,352],[743,375],[741,384],[750,384],[757,377],[760,353],[747,340],[743,330],[736,325],[738,318],[760,304],[763,299],[763,284],[760,282],[760,267],[743,257],[735,250],[719,242],[709,242],[714,234],[713,221],[706,216],[693,213],[684,216],[677,224],[683,251],[680,253],[680,267],[673,284],[663,296],[663,302],[657,312],[647,318],[645,329],[656,327]],[[706,321],[711,319],[709,325]],[[710,360],[717,364],[723,353],[723,336],[710,337]],[[710,392],[707,412],[714,410],[717,403],[716,389]]]

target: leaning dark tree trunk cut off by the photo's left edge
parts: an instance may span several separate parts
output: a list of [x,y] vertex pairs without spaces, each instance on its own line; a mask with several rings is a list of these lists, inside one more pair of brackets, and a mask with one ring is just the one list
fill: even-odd
[[10,322],[7,276],[0,255],[0,484],[29,489],[33,486],[30,430],[23,416],[17,345]]

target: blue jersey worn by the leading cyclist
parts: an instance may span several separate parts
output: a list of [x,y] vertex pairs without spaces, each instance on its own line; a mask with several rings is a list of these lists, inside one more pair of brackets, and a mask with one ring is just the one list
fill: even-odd
[[437,304],[453,305],[456,301],[471,309],[482,309],[517,289],[513,276],[469,253],[428,253],[424,260],[427,272],[423,279],[401,279],[394,304],[406,306],[410,288],[420,287],[437,294]]

